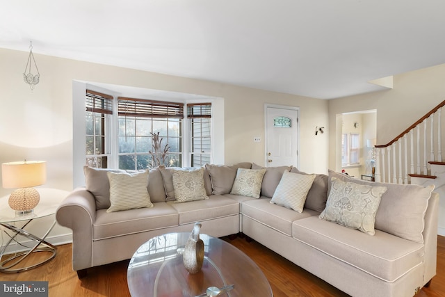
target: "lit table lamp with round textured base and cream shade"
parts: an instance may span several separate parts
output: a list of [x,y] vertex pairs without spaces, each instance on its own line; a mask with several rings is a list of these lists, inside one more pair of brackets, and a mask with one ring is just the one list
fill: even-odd
[[1,164],[3,188],[17,188],[11,193],[8,204],[16,214],[31,213],[40,201],[33,186],[47,181],[47,163],[44,161],[18,161]]

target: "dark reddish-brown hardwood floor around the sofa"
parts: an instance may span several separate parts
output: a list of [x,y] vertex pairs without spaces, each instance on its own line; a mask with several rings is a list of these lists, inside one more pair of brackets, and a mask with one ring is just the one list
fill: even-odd
[[[287,261],[261,244],[236,238],[229,243],[245,252],[262,269],[275,297],[280,296],[347,296],[330,284]],[[49,296],[130,296],[127,287],[128,261],[88,269],[86,278],[79,280],[71,268],[71,244],[58,246],[56,258],[38,268],[22,273],[0,273],[0,280],[44,280],[49,282]],[[33,255],[39,257],[39,255]],[[416,297],[445,296],[445,237],[438,236],[437,275],[429,288]]]

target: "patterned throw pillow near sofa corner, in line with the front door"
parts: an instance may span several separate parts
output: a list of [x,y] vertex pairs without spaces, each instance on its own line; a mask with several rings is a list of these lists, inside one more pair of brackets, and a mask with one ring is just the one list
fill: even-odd
[[245,169],[238,168],[236,170],[236,177],[234,185],[232,186],[233,195],[248,196],[252,198],[259,198],[261,193],[261,182],[263,181],[266,169]]

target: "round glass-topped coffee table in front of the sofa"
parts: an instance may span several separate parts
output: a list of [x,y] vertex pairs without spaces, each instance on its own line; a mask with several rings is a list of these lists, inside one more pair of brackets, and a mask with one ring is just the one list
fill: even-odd
[[182,250],[190,233],[156,236],[131,257],[127,282],[131,296],[207,296],[209,287],[234,289],[220,296],[273,296],[261,269],[241,250],[221,239],[200,234],[204,241],[204,264],[191,275],[182,263]]

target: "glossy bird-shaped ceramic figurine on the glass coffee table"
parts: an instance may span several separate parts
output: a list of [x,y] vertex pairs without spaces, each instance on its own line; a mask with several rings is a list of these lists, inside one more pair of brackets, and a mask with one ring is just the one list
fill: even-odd
[[191,274],[200,272],[204,262],[204,241],[200,239],[200,230],[201,223],[195,223],[182,254],[184,266]]

